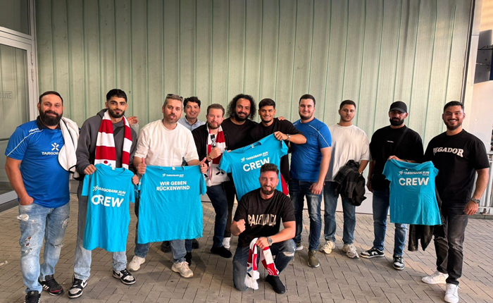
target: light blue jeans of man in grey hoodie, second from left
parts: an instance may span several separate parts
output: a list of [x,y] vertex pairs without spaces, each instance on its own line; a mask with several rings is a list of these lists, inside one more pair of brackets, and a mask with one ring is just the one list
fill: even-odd
[[[92,251],[83,246],[84,232],[87,218],[87,196],[82,196],[83,182],[77,187],[77,198],[79,199],[79,215],[77,217],[77,242],[75,243],[74,276],[80,280],[87,280],[91,276]],[[127,268],[127,252],[113,252],[111,267],[114,271]]]

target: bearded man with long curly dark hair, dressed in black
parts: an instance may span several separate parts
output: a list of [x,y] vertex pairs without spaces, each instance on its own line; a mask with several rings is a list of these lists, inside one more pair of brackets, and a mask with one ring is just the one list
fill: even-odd
[[[227,146],[228,150],[235,150],[246,145],[251,144],[251,137],[249,133],[258,124],[253,119],[255,118],[256,104],[254,97],[249,94],[237,94],[227,106],[227,118],[223,121],[223,130],[233,134],[230,138],[230,144]],[[230,249],[231,241],[231,218],[233,211],[233,204],[235,203],[235,183],[230,175],[230,181],[225,183],[225,190],[227,195],[227,222],[224,232],[223,246]]]

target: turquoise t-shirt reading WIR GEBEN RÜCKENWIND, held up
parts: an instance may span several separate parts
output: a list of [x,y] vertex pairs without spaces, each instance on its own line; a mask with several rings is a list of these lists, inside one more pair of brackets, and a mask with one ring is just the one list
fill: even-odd
[[200,166],[147,166],[139,188],[137,243],[202,237],[207,187]]

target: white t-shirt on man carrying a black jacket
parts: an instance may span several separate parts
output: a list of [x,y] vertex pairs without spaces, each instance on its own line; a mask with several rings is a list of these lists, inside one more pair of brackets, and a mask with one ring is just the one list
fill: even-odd
[[325,180],[333,181],[339,169],[346,165],[347,161],[370,160],[370,142],[366,133],[356,125],[335,124],[330,126],[329,130],[332,135],[332,156]]

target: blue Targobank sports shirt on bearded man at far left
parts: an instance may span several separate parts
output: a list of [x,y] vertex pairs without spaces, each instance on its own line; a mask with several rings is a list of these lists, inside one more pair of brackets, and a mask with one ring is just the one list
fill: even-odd
[[39,117],[20,125],[8,140],[5,155],[22,161],[25,190],[34,203],[44,207],[60,207],[70,200],[68,171],[58,163],[63,144],[61,129],[46,128]]

